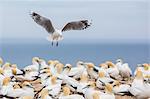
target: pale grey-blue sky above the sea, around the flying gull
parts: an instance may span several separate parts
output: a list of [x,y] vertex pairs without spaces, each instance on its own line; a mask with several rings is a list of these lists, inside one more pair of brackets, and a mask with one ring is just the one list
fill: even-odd
[[150,41],[148,0],[1,0],[0,39],[45,39],[48,33],[31,19],[30,11],[60,29],[69,21],[92,20],[87,30],[64,32],[66,41]]

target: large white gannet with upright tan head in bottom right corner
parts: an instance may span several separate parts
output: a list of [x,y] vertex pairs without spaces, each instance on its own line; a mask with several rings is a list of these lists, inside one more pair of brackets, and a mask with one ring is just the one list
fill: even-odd
[[137,71],[129,92],[138,99],[150,98],[150,84],[144,82],[142,71]]

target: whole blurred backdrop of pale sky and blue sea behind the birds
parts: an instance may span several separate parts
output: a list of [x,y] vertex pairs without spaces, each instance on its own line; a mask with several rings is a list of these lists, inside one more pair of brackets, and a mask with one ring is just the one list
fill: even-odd
[[[34,56],[75,65],[78,60],[99,63],[122,58],[132,69],[150,62],[148,0],[1,0],[0,56],[24,67]],[[29,13],[49,18],[61,29],[70,21],[92,20],[84,31],[64,32],[52,47],[48,33]]]

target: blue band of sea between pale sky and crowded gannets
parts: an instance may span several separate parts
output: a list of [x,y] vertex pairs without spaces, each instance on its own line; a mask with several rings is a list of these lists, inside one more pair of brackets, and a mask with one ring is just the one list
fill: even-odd
[[99,65],[105,61],[122,58],[134,71],[137,64],[150,62],[148,44],[64,44],[58,47],[38,43],[6,43],[0,46],[0,56],[4,61],[15,63],[19,68],[31,64],[32,57],[45,60],[57,59],[73,66],[79,60]]

